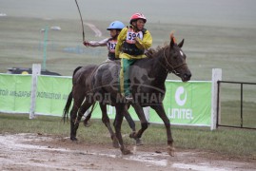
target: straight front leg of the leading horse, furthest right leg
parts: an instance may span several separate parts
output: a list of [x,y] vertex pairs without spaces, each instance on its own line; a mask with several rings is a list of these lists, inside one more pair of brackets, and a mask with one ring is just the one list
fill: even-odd
[[169,120],[167,118],[165,108],[164,108],[163,104],[152,105],[151,107],[156,111],[156,113],[159,115],[159,117],[165,123],[166,129],[167,129],[167,153],[170,156],[174,156],[173,139],[172,139],[172,136],[171,136],[170,123],[169,123]]

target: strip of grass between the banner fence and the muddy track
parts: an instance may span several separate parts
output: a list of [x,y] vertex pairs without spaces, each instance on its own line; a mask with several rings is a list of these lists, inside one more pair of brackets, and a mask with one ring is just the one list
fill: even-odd
[[[112,122],[112,121],[111,121]],[[136,123],[137,129],[140,128]],[[0,134],[9,133],[41,133],[61,137],[69,137],[69,123],[61,122],[59,117],[39,116],[29,120],[28,115],[0,114]],[[127,145],[134,141],[128,138],[130,129],[128,123],[122,125],[122,134]],[[91,126],[80,124],[77,137],[82,142],[109,144],[108,129],[101,120],[92,120]],[[209,131],[204,127],[172,126],[175,147],[180,149],[197,149],[215,152],[230,157],[255,159],[256,133],[248,130],[218,129]],[[97,136],[96,136],[97,135]],[[163,124],[150,124],[142,138],[145,144],[167,145],[166,128]]]

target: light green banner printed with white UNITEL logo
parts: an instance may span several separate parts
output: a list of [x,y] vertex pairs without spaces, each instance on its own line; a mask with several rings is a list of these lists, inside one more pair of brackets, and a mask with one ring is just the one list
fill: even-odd
[[[167,117],[172,124],[210,125],[211,82],[167,81],[164,106]],[[128,109],[132,118],[139,121],[134,109]],[[114,107],[108,106],[109,118],[114,118]],[[163,123],[157,113],[150,108],[150,123]]]

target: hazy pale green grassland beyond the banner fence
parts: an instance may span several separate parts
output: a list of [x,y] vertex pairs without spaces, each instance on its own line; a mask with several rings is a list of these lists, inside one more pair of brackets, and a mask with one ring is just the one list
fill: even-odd
[[[86,21],[102,30],[103,37],[85,26],[87,40],[108,37],[109,21]],[[62,75],[71,75],[76,66],[99,64],[107,58],[106,47],[84,47],[79,20],[44,20],[36,18],[2,17],[0,25],[0,72],[11,66],[31,67],[43,63],[45,26],[60,26],[62,30],[49,30],[47,68]],[[256,28],[228,28],[148,23],[153,37],[153,47],[169,41],[169,32],[175,30],[178,41],[185,38],[183,47],[187,64],[192,72],[191,80],[211,79],[212,68],[223,69],[223,80],[256,81]],[[178,79],[169,74],[168,79]]]

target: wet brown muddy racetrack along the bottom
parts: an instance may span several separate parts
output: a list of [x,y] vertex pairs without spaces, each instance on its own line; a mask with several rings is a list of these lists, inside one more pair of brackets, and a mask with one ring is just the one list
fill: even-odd
[[71,142],[69,138],[37,134],[0,135],[0,170],[255,170],[255,160],[176,149],[166,146],[128,146],[124,156],[110,144]]

